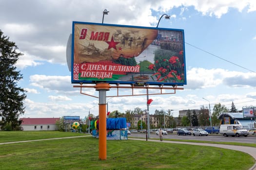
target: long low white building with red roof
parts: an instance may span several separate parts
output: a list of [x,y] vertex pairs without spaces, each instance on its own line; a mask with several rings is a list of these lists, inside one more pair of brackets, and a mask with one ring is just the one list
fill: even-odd
[[20,118],[23,131],[55,131],[60,118]]

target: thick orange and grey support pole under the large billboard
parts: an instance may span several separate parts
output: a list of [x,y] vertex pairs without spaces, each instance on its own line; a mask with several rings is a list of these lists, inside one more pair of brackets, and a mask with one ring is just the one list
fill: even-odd
[[98,158],[107,159],[107,110],[106,91],[111,88],[108,83],[97,83],[94,86],[99,93],[98,99]]

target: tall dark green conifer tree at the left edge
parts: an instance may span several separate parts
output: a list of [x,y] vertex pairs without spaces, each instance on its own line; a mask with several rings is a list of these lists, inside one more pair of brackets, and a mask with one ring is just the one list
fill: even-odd
[[17,83],[23,78],[15,64],[23,54],[0,30],[0,124],[11,125],[11,130],[20,126],[19,116],[24,114],[25,90]]

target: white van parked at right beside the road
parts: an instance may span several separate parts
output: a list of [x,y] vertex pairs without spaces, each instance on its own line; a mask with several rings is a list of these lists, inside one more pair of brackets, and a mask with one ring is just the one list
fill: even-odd
[[243,128],[240,124],[221,124],[219,128],[219,133],[223,136],[247,136],[248,131]]

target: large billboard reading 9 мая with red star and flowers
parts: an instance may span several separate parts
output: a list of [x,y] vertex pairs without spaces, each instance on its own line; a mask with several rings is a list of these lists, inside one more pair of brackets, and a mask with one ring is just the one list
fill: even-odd
[[186,85],[184,31],[73,21],[71,82]]

